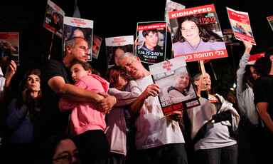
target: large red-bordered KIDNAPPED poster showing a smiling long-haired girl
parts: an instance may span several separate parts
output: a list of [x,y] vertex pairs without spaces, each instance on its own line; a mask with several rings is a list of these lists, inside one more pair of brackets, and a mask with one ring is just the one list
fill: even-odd
[[200,61],[228,57],[213,4],[168,13],[174,58]]

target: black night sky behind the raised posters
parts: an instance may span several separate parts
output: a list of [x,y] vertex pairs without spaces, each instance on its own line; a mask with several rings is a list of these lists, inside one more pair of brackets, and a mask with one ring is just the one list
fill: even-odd
[[[65,11],[65,16],[73,16],[74,0],[52,0]],[[272,16],[272,5],[264,0],[241,0],[241,1],[213,1],[176,0],[186,8],[214,4],[221,29],[230,29],[226,6],[237,11],[249,13],[252,32],[257,46],[253,46],[251,54],[261,53],[273,46],[273,31],[267,21],[267,16]],[[45,7],[47,1],[2,1],[0,6],[0,31],[19,32],[20,66],[16,78],[21,78],[28,68],[41,68],[48,60],[52,33],[43,27]],[[137,22],[164,21],[166,1],[138,0],[138,1],[83,1],[78,0],[80,16],[82,19],[94,21],[94,35],[100,36],[102,47],[98,59],[92,59],[92,66],[102,76],[106,71],[105,38],[113,36],[127,36],[136,34]],[[61,60],[62,39],[54,36],[52,58]],[[218,81],[213,78],[210,63],[205,63],[206,71],[210,72],[213,83],[223,88],[230,88],[236,82],[236,70],[245,47],[227,46],[228,58],[220,58],[211,61],[215,69]],[[171,56],[171,36],[167,38],[167,58]],[[198,71],[198,62],[187,63],[191,74]],[[5,68],[4,68],[5,70]]]

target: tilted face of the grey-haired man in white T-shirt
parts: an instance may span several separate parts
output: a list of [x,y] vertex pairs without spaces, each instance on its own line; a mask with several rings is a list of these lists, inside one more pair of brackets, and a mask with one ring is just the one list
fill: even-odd
[[140,59],[136,57],[137,60],[132,58],[124,57],[121,61],[119,61],[119,66],[128,73],[133,78],[137,79],[140,77]]

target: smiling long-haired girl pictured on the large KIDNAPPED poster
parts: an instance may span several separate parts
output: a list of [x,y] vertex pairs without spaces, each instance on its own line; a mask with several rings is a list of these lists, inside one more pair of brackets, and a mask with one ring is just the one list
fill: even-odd
[[200,24],[196,16],[186,16],[178,21],[173,37],[174,57],[189,53],[225,49],[225,42],[218,34]]

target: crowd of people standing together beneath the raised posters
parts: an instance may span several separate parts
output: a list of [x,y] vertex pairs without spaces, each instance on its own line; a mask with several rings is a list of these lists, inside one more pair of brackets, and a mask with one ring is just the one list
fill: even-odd
[[237,100],[213,93],[209,73],[198,72],[200,106],[167,116],[133,53],[102,76],[87,63],[87,41],[73,37],[63,61],[26,71],[16,95],[11,61],[0,70],[1,155],[10,163],[271,163],[273,48],[247,65],[252,44],[243,43]]

